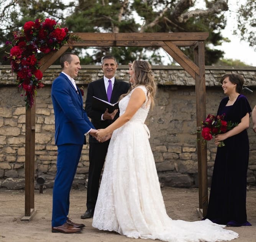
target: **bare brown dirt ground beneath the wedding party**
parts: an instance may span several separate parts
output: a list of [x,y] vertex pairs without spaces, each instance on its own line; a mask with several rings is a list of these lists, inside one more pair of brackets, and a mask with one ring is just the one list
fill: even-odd
[[[186,221],[200,220],[197,188],[162,188],[166,210],[172,219]],[[43,193],[35,191],[36,215],[31,221],[21,221],[25,209],[24,190],[0,189],[0,241],[1,242],[144,242],[144,239],[129,239],[115,232],[99,231],[92,227],[92,219],[80,219],[86,210],[86,190],[71,191],[69,217],[86,227],[80,234],[51,233],[52,190]],[[253,226],[229,227],[238,232],[235,242],[256,242],[256,188],[249,187],[247,192],[248,221]],[[151,240],[147,240],[148,242]],[[153,241],[153,240],[152,240]],[[158,240],[159,241],[159,240]]]

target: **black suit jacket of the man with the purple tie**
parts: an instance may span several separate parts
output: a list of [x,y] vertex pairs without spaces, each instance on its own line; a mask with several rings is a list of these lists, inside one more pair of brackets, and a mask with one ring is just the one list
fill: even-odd
[[[121,94],[127,93],[129,88],[130,88],[129,83],[115,79],[110,102],[116,103],[118,101],[119,97],[121,96]],[[92,109],[92,97],[93,96],[103,99],[105,101],[108,101],[103,78],[89,83],[88,88],[87,88],[87,96],[86,96],[86,100],[85,100],[85,110],[87,112],[88,117],[90,117],[92,119],[91,122],[96,129],[106,128],[106,127],[108,127],[108,125],[113,123],[119,117],[120,112],[118,110],[117,114],[115,115],[114,120],[101,120],[101,116],[103,113],[98,110]],[[90,142],[98,142],[92,136],[89,136],[89,141]]]

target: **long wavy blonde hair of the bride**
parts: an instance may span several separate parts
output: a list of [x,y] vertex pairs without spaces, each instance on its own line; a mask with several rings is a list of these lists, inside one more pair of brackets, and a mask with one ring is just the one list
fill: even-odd
[[[120,99],[128,95],[134,88],[143,85],[147,89],[148,102],[151,101],[151,108],[154,107],[154,97],[156,95],[156,84],[151,70],[151,65],[146,60],[135,60],[133,62],[134,75],[131,76],[134,80],[133,86],[128,93],[120,96]],[[148,104],[146,103],[146,105]]]

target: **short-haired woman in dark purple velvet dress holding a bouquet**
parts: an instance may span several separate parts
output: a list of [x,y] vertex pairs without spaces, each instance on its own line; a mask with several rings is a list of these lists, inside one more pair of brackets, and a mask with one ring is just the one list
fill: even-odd
[[223,141],[225,146],[217,148],[207,216],[214,223],[227,226],[250,226],[246,216],[246,178],[249,160],[247,128],[251,107],[241,93],[243,77],[226,74],[221,79],[224,94],[218,115],[225,120],[238,123],[226,133],[215,136],[215,144]]

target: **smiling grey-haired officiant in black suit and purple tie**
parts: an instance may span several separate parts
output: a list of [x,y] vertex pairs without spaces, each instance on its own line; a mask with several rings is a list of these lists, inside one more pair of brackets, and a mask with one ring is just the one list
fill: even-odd
[[[121,94],[127,93],[130,84],[125,81],[119,81],[115,78],[115,72],[118,64],[115,57],[107,55],[102,58],[103,78],[92,81],[87,88],[85,100],[85,110],[88,117],[91,118],[96,129],[106,128],[119,117],[119,110],[112,113],[105,110],[104,113],[92,109],[92,97],[98,97],[110,103],[116,103]],[[105,162],[110,140],[99,143],[94,137],[89,136],[89,174],[87,185],[87,210],[82,214],[82,219],[92,218],[94,208],[98,197],[98,187],[100,175]]]

